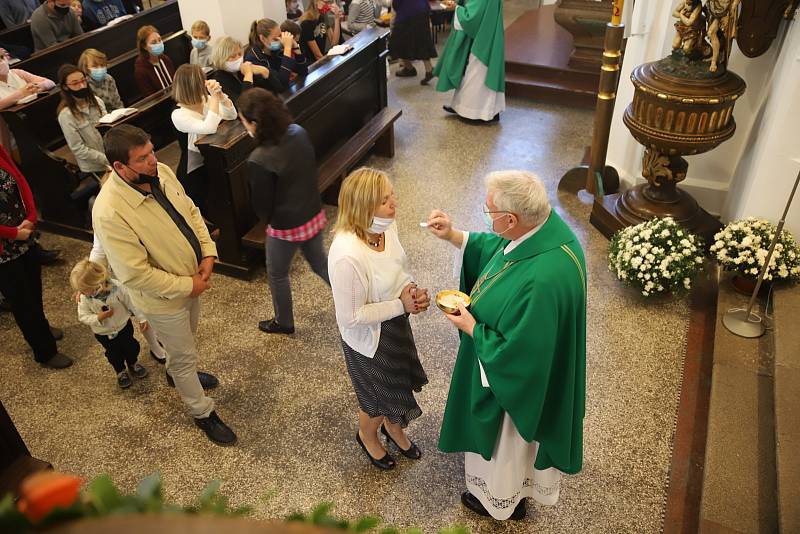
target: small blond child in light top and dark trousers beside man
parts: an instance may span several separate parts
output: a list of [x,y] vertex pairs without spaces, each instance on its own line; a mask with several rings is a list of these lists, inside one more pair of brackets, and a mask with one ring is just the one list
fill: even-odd
[[[131,386],[128,371],[136,378],[146,377],[147,369],[137,362],[139,342],[133,337],[132,305],[125,288],[108,276],[105,267],[88,259],[75,265],[69,279],[81,294],[78,319],[92,328],[94,337],[106,349],[106,358],[117,372],[117,385],[122,389]],[[147,321],[137,320],[146,330]]]

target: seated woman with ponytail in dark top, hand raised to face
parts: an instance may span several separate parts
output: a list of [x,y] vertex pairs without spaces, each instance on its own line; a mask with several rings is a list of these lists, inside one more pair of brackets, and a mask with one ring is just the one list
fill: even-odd
[[270,76],[280,80],[281,91],[289,88],[289,81],[294,76],[305,76],[308,72],[306,56],[300,45],[291,33],[282,32],[274,20],[254,20],[250,25],[249,40],[244,60],[268,68]]

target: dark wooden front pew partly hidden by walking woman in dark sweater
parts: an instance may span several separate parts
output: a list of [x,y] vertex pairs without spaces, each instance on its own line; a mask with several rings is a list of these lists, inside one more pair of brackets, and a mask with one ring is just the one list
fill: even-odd
[[[345,56],[326,57],[282,95],[314,144],[320,190],[338,181],[377,145],[394,153],[393,123],[400,111],[387,108],[388,30],[369,29],[348,41]],[[245,162],[254,147],[238,121],[195,142],[211,176],[205,215],[220,227],[217,240],[222,273],[246,278],[262,264],[264,227],[250,207]]]

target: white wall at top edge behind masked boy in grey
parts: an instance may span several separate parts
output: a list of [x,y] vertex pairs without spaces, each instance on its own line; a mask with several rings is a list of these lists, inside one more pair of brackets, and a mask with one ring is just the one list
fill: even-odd
[[270,18],[281,23],[286,19],[282,0],[180,0],[178,4],[183,27],[188,31],[195,20],[206,21],[212,42],[230,36],[247,43],[254,20]]

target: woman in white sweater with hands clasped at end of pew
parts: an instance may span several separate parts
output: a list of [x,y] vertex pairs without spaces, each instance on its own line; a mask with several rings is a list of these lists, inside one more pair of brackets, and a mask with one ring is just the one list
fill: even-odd
[[181,160],[178,180],[186,194],[200,207],[206,209],[208,173],[203,156],[194,142],[201,135],[213,134],[223,120],[236,118],[233,102],[222,92],[220,84],[206,80],[202,67],[184,64],[175,71],[172,98],[178,108],[172,112],[172,123],[178,130]]

